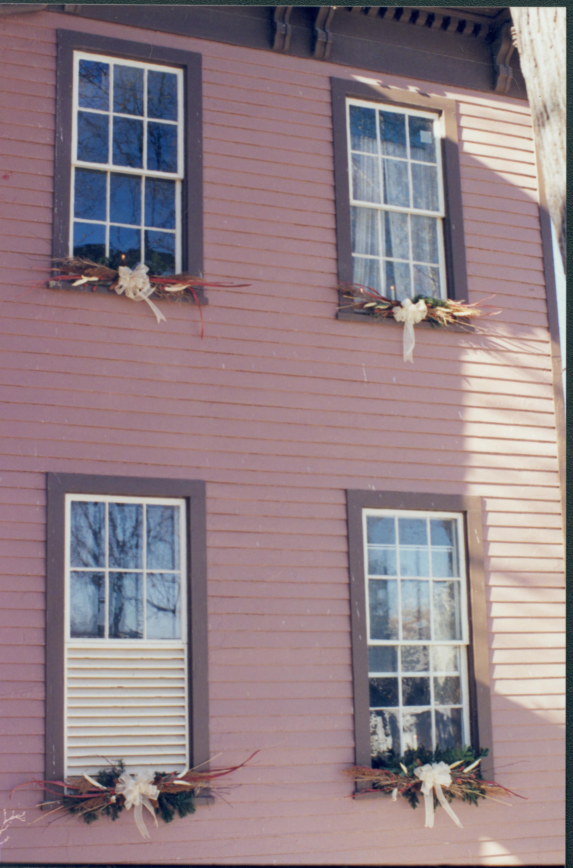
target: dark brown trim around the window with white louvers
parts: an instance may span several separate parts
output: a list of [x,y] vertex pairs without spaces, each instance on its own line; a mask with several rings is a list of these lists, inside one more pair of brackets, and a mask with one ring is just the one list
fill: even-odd
[[[209,759],[205,482],[186,479],[47,474],[46,780],[64,768],[64,525],[66,494],[184,497],[187,503],[189,766]],[[209,799],[210,797],[206,797]],[[199,803],[200,804],[200,803]]]

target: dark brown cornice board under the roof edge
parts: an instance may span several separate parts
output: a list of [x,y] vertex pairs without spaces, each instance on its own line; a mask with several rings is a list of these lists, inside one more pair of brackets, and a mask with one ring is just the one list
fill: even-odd
[[[62,12],[61,5],[50,5]],[[280,8],[280,7],[279,7]],[[356,7],[360,8],[361,7]],[[382,9],[383,7],[380,7]],[[410,23],[412,7],[406,7],[402,18],[368,15],[376,7],[364,7],[365,12],[355,14],[348,7],[336,7],[328,18],[327,30],[323,24],[326,7],[294,6],[288,16],[288,47],[277,42],[276,6],[167,6],[160,4],[103,5],[85,3],[75,6],[75,14],[110,23],[127,24],[132,27],[195,36],[213,42],[241,45],[246,48],[271,51],[281,50],[296,57],[322,59],[327,54],[328,62],[383,72],[389,75],[409,76],[422,81],[446,84],[492,93],[497,82],[493,67],[491,38],[489,33],[492,16],[479,15],[472,10],[472,21],[484,21],[481,36],[466,36],[455,31],[416,26]],[[334,7],[329,7],[333,10]],[[421,9],[421,7],[420,7]],[[426,8],[429,9],[429,8]],[[434,9],[434,7],[432,7]],[[437,10],[438,7],[435,7]],[[504,8],[500,8],[500,13]],[[447,7],[440,8],[445,14]],[[317,21],[317,12],[322,17]],[[391,8],[388,8],[388,13]],[[452,8],[452,16],[462,18],[459,8]],[[468,12],[466,18],[469,19]],[[324,18],[324,22],[322,21]],[[499,16],[501,18],[501,15]],[[279,19],[280,21],[280,16]],[[495,21],[497,22],[498,16]],[[322,31],[317,49],[318,30]],[[327,33],[328,31],[328,33]],[[327,36],[323,36],[327,33]],[[326,39],[331,37],[326,48]],[[319,37],[320,38],[320,37]],[[523,76],[518,68],[517,52],[512,58],[513,78],[508,82],[507,95],[526,99]]]

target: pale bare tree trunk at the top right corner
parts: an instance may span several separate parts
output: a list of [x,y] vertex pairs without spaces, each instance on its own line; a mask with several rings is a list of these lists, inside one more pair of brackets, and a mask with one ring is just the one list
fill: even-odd
[[551,220],[565,266],[565,6],[511,6]]

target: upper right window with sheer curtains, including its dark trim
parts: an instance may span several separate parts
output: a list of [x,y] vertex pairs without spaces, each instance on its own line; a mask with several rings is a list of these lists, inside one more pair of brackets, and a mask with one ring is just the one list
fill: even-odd
[[330,81],[338,318],[368,319],[348,310],[351,283],[400,301],[467,299],[456,103],[375,81]]

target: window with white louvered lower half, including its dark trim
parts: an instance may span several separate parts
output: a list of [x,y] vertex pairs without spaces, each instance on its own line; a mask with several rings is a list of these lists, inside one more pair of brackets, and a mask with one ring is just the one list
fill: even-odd
[[47,779],[208,759],[205,483],[49,474]]

